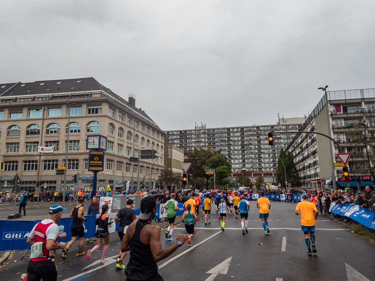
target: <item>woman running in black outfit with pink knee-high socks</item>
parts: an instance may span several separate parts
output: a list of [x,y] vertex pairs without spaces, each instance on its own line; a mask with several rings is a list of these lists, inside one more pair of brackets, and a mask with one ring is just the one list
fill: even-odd
[[[156,201],[155,201],[156,203]],[[110,244],[110,232],[108,230],[108,226],[114,223],[114,220],[109,221],[110,215],[107,214],[108,212],[108,204],[104,204],[102,206],[102,212],[99,217],[96,219],[95,224],[98,226],[94,236],[98,239],[97,245],[92,248],[92,250],[87,250],[86,259],[90,259],[91,253],[99,250],[102,247],[102,240],[104,240],[105,246],[103,248],[103,255],[102,259],[100,260],[101,263],[108,262],[108,259],[105,258],[105,254],[107,254],[108,245]],[[122,251],[124,252],[124,251]]]

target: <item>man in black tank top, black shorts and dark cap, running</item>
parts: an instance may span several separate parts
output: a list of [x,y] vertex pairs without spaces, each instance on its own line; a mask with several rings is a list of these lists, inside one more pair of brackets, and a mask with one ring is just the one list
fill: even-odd
[[75,241],[77,241],[77,236],[80,239],[80,242],[78,244],[78,254],[76,256],[81,257],[85,254],[85,252],[82,252],[83,249],[83,238],[85,236],[85,227],[83,222],[87,221],[87,218],[84,218],[84,209],[83,206],[85,205],[85,199],[80,198],[78,200],[78,205],[75,206],[70,215],[69,218],[73,219],[72,227],[71,227],[71,233],[72,233],[72,240],[68,242],[66,245],[66,249],[62,251],[62,259],[66,260],[66,254],[68,254],[68,250]]

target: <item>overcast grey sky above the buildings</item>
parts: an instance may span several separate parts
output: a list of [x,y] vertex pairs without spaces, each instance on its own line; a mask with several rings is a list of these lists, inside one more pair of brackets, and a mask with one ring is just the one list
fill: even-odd
[[[310,3],[308,3],[310,2]],[[375,1],[1,1],[0,82],[94,77],[162,130],[275,124],[375,88]]]

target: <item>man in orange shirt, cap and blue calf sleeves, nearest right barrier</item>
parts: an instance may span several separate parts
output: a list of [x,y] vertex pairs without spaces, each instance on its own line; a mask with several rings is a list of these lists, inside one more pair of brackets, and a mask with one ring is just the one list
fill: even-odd
[[[309,195],[307,193],[302,194],[303,201],[298,203],[296,206],[296,211],[294,213],[299,215],[301,212],[301,230],[305,233],[305,243],[308,248],[307,254],[311,256],[312,252],[316,253],[317,248],[315,248],[315,221],[318,221],[318,209],[308,201]],[[310,237],[309,237],[310,236]],[[310,248],[310,239],[311,239],[311,248]]]

